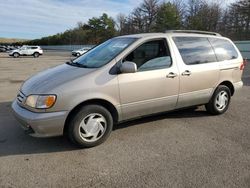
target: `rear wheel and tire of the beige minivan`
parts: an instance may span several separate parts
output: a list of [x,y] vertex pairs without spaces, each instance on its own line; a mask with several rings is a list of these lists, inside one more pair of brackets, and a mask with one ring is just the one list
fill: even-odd
[[205,105],[206,110],[213,115],[223,114],[229,107],[230,99],[230,89],[227,86],[219,85],[209,103]]

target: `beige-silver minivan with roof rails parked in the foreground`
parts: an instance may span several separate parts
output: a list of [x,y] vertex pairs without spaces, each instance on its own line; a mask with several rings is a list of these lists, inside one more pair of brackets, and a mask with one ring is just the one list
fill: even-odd
[[223,114],[243,68],[237,47],[217,33],[120,36],[25,81],[12,109],[32,136],[66,134],[92,147],[121,121],[198,105]]

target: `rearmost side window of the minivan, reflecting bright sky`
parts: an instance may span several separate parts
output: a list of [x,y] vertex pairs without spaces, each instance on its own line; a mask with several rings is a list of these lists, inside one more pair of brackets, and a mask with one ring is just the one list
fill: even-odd
[[238,57],[235,47],[228,40],[209,38],[209,41],[214,47],[218,61],[236,59]]

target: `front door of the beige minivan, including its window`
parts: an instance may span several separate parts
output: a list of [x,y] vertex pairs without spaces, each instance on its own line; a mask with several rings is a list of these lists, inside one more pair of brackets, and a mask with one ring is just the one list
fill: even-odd
[[136,73],[118,75],[122,119],[176,107],[179,74],[166,39],[147,41],[122,60],[137,65]]

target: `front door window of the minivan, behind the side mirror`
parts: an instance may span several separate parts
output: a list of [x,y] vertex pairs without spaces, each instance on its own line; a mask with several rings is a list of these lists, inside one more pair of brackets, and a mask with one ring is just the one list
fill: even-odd
[[142,44],[123,61],[136,63],[138,71],[168,68],[172,64],[166,39],[158,39]]

